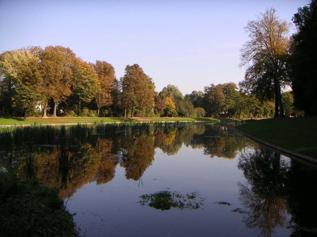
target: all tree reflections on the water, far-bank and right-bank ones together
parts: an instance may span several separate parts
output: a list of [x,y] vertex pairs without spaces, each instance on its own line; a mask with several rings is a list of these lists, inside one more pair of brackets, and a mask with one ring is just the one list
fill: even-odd
[[[26,131],[33,141],[23,142],[25,131],[19,129],[16,139],[11,137],[0,144],[1,169],[59,188],[62,198],[71,197],[87,182],[99,185],[111,181],[118,164],[125,169],[126,179],[143,185],[142,175],[152,165],[156,148],[174,155],[185,145],[204,149],[204,155],[227,159],[240,152],[238,168],[246,183],[238,185],[240,200],[248,210],[245,225],[257,229],[261,236],[272,236],[279,227],[290,228],[291,236],[317,233],[313,188],[317,168],[260,149],[260,145],[239,137],[226,126],[182,125],[103,135],[92,135],[87,125]],[[32,136],[34,133],[38,135]],[[44,135],[41,143],[39,137]]]

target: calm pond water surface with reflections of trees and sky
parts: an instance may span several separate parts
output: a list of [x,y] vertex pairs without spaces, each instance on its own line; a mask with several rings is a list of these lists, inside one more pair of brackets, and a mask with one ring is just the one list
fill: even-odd
[[[2,169],[57,187],[83,236],[317,234],[316,167],[231,125],[88,130],[52,131],[44,144],[16,139],[10,149],[2,144],[0,160]],[[164,208],[155,196],[162,193]]]

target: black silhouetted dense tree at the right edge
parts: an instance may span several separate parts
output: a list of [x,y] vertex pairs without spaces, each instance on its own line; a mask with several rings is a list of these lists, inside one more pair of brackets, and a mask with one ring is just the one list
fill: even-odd
[[290,60],[294,105],[304,109],[305,115],[317,115],[317,1],[299,8],[293,21],[297,28]]

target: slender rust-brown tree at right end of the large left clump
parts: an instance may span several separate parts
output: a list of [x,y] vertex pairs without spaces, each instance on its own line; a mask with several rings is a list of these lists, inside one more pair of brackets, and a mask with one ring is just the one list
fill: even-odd
[[116,82],[114,68],[105,61],[97,60],[93,64],[94,70],[98,75],[99,89],[97,90],[95,101],[98,107],[97,116],[99,116],[100,108],[110,106],[113,103],[113,90]]

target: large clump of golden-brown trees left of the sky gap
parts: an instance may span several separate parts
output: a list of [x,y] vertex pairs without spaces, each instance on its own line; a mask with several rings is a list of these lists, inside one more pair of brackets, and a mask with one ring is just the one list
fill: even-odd
[[98,108],[112,104],[116,82],[111,64],[87,63],[62,46],[23,48],[0,55],[1,113],[20,115],[34,113],[36,106],[46,117],[51,107],[53,117],[59,111],[67,114],[81,102],[94,99]]

